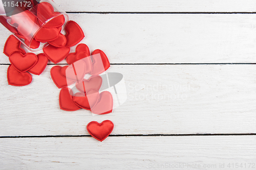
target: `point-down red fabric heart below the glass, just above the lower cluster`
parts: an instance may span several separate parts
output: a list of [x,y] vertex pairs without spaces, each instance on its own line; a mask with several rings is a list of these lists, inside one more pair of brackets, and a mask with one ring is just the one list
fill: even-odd
[[67,57],[70,52],[70,47],[62,46],[58,48],[52,45],[47,45],[42,50],[46,57],[56,64]]

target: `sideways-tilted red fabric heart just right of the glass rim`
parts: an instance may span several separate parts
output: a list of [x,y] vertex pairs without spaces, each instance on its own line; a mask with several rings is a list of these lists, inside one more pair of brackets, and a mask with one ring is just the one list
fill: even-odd
[[68,21],[65,30],[67,32],[66,46],[68,47],[74,46],[84,38],[84,34],[81,27],[73,20]]

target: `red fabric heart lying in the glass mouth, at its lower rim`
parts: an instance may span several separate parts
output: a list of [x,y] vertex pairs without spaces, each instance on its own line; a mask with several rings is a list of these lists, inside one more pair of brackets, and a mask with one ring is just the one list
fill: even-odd
[[41,28],[35,35],[35,40],[40,42],[53,41],[59,36],[59,28]]

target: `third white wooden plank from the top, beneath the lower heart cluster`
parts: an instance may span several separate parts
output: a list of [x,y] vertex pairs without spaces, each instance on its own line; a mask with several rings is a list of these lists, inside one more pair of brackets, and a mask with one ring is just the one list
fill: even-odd
[[112,134],[255,133],[255,65],[112,65],[124,75],[127,101],[113,113],[59,109],[48,65],[24,87],[10,86],[0,67],[0,136],[83,135],[110,119]]

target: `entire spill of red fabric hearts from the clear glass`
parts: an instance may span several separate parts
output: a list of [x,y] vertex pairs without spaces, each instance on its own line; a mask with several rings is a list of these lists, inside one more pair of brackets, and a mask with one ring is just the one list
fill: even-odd
[[[29,0],[30,1],[30,0]],[[102,74],[110,67],[110,62],[105,53],[95,50],[90,56],[89,47],[86,44],[78,44],[84,33],[75,21],[68,21],[66,25],[66,35],[61,33],[65,16],[55,12],[50,3],[31,1],[36,9],[36,16],[26,10],[10,17],[11,25],[6,18],[0,16],[0,22],[7,27],[15,36],[24,39],[25,44],[36,49],[40,43],[48,43],[43,48],[44,53],[37,56],[33,53],[26,53],[20,47],[20,41],[15,36],[8,37],[4,54],[9,57],[10,66],[7,70],[8,84],[13,86],[25,86],[32,82],[29,74],[40,75],[46,68],[48,60],[58,63],[63,59],[69,65],[53,66],[50,70],[54,84],[61,88],[59,93],[59,107],[66,111],[76,111],[79,109],[90,110],[94,114],[108,114],[113,110],[113,97],[109,91],[99,93],[102,85]],[[17,12],[17,11],[14,11]],[[24,23],[28,28],[21,27]],[[40,30],[29,41],[34,34],[34,28]],[[74,53],[70,53],[70,47],[76,45]],[[69,54],[70,53],[70,54]],[[90,79],[84,79],[86,74],[92,75]],[[75,84],[74,84],[75,83]],[[74,84],[80,92],[73,93],[69,85]],[[88,132],[97,140],[103,141],[113,131],[114,124],[110,120],[102,123],[90,122],[87,125]]]

